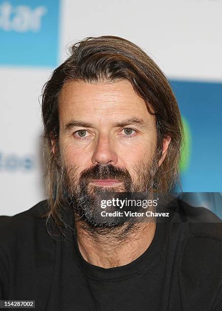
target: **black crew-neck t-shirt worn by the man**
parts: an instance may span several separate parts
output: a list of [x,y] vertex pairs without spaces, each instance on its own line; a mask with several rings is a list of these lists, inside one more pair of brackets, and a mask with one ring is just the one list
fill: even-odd
[[221,223],[158,223],[138,259],[104,269],[83,259],[73,231],[49,235],[47,208],[0,217],[0,300],[41,311],[222,310]]

